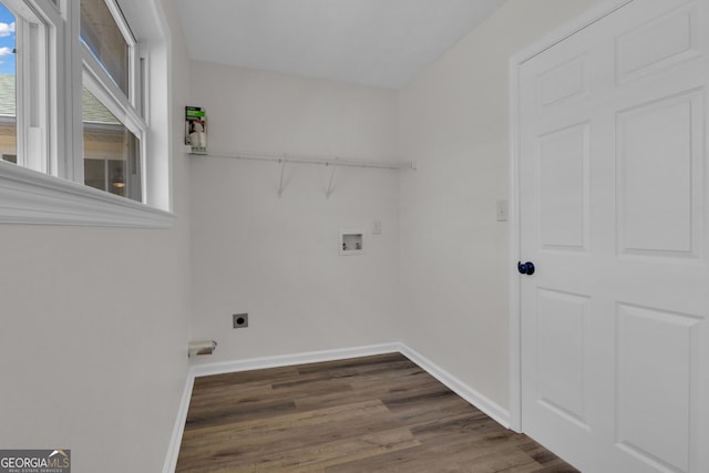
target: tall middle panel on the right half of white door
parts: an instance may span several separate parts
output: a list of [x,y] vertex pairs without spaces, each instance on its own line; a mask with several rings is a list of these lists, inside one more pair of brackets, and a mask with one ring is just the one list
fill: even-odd
[[701,188],[691,177],[701,168],[701,99],[693,91],[618,113],[621,254],[698,256]]

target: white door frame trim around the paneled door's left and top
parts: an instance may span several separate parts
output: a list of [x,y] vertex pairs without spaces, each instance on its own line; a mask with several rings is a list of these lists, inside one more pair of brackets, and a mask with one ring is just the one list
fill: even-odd
[[510,428],[522,432],[522,307],[520,275],[514,261],[522,260],[520,228],[520,68],[530,59],[566,40],[635,0],[602,0],[580,17],[563,24],[540,41],[517,52],[508,63],[510,96]]

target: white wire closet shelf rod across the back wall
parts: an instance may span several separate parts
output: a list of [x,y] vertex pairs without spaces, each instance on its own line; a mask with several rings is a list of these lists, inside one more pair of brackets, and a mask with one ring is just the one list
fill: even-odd
[[353,167],[377,167],[380,169],[415,169],[415,163],[412,161],[373,161],[358,160],[353,157],[337,156],[316,156],[307,154],[291,153],[267,153],[267,152],[208,152],[208,153],[189,153],[194,156],[206,157],[227,157],[236,160],[267,161],[275,163],[304,163],[304,164],[322,164],[326,166],[353,166]]

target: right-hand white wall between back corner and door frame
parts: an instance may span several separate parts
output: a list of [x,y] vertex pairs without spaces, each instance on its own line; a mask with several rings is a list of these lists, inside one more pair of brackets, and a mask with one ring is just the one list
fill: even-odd
[[508,59],[597,0],[510,0],[400,93],[403,340],[508,405]]

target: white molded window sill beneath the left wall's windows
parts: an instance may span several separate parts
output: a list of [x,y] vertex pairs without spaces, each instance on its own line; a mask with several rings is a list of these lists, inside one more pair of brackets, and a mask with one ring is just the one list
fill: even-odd
[[0,224],[171,228],[175,215],[0,162]]

